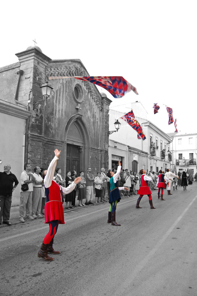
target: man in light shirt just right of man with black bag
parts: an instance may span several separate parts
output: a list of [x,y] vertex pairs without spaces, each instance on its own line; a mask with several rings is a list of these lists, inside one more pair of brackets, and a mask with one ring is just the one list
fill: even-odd
[[36,219],[37,217],[43,218],[41,214],[42,207],[42,186],[44,186],[43,179],[40,176],[41,168],[35,167],[33,176],[35,177],[35,182],[33,183],[32,192],[32,217]]

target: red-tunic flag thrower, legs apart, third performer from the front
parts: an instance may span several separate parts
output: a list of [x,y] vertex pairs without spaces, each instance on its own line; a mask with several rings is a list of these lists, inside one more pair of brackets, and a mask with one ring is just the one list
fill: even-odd
[[142,207],[139,206],[140,200],[142,199],[142,196],[144,194],[148,195],[149,198],[149,204],[150,204],[150,208],[151,209],[156,209],[155,207],[153,207],[153,201],[152,201],[152,197],[151,194],[152,192],[150,191],[150,188],[148,186],[148,181],[153,181],[153,179],[150,176],[146,175],[146,171],[145,170],[140,170],[140,174],[141,176],[141,186],[140,189],[138,190],[137,194],[140,194],[140,197],[137,200],[137,204],[136,204],[136,208],[137,209],[141,209]]

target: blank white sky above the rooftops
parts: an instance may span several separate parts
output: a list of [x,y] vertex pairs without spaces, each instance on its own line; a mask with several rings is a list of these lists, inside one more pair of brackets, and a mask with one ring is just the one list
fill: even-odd
[[196,133],[196,8],[193,0],[4,1],[0,67],[36,38],[51,59],[81,59],[90,75],[123,76],[137,88],[138,96],[122,99],[99,88],[117,105],[140,101],[149,120],[172,133],[166,104],[179,133]]

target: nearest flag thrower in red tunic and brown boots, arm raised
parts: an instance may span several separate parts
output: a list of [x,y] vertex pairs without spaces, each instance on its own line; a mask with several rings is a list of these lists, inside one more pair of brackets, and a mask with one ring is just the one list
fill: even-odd
[[55,172],[55,167],[58,157],[60,156],[60,152],[58,149],[54,150],[55,157],[49,164],[48,170],[44,170],[43,179],[44,179],[44,187],[46,191],[46,205],[44,207],[45,214],[45,223],[49,223],[49,232],[44,237],[43,243],[41,245],[41,249],[38,252],[38,257],[43,258],[46,261],[54,260],[52,257],[48,255],[51,254],[60,254],[60,251],[55,251],[53,249],[53,238],[57,232],[58,224],[65,224],[64,222],[64,211],[63,211],[63,194],[70,193],[76,186],[76,184],[81,181],[80,177],[77,177],[72,184],[70,184],[67,188],[58,185],[55,181],[53,181],[53,176]]

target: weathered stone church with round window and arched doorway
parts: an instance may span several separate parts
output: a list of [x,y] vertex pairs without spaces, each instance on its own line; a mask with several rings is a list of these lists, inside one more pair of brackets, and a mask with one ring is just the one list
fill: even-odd
[[[17,155],[12,155],[12,161],[10,152],[1,153],[2,165],[11,162],[11,171],[20,180],[24,163],[32,168],[47,168],[57,148],[62,151],[57,167],[64,176],[67,170],[74,169],[79,174],[80,169],[86,172],[89,166],[93,172],[102,166],[108,168],[111,101],[94,84],[74,78],[49,80],[52,93],[36,107],[36,101],[43,98],[40,86],[49,76],[89,76],[82,62],[52,60],[38,46],[30,46],[16,56],[19,62],[0,68],[0,113],[3,120],[10,116],[1,131],[4,145],[20,148]],[[0,124],[4,125],[1,119]],[[15,149],[12,151],[15,153]],[[14,205],[19,203],[20,195],[19,188],[15,191]]]

